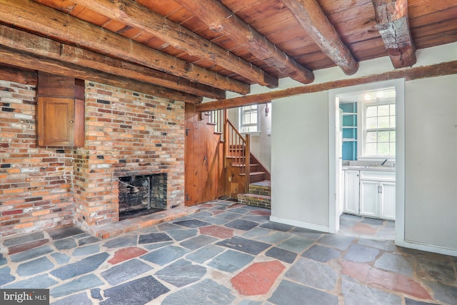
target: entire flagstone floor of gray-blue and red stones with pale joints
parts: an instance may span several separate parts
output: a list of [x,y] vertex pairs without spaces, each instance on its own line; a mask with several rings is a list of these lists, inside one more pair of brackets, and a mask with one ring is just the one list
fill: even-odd
[[198,207],[110,239],[74,226],[0,239],[0,288],[72,305],[457,304],[457,257],[396,247],[391,221],[343,215],[333,235]]

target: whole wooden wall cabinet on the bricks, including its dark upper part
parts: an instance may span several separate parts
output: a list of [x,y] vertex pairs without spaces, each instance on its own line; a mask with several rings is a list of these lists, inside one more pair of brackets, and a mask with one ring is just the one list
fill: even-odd
[[41,71],[38,81],[38,146],[84,146],[84,81]]

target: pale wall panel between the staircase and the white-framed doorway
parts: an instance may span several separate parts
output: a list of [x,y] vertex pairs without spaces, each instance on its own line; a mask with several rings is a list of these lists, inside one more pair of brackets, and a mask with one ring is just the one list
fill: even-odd
[[273,101],[271,220],[328,231],[328,94]]

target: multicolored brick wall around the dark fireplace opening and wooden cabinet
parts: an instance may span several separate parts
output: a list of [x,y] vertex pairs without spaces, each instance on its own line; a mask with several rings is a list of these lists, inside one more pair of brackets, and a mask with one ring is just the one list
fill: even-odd
[[115,223],[126,176],[165,177],[161,209],[184,206],[184,102],[85,87],[84,147],[37,147],[34,86],[0,80],[0,236]]

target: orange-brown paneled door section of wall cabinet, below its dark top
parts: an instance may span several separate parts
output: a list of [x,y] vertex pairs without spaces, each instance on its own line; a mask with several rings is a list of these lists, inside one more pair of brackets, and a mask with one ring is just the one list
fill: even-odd
[[84,146],[84,100],[38,96],[39,146]]

